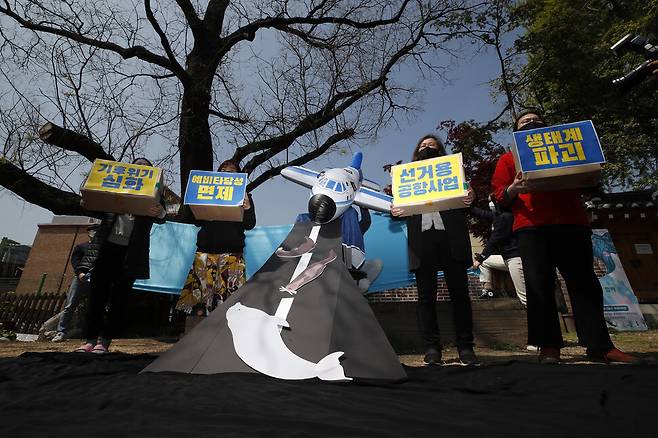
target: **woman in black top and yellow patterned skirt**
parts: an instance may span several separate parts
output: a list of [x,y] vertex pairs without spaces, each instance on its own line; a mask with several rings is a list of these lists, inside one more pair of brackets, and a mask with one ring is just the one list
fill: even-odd
[[[224,161],[219,172],[239,172],[233,160]],[[246,281],[244,262],[245,230],[256,226],[256,209],[250,194],[244,200],[242,222],[196,221],[194,263],[176,304],[178,310],[205,316]]]

